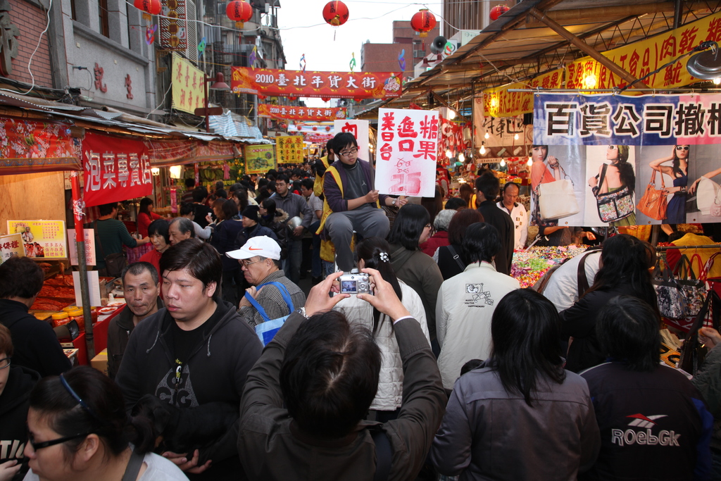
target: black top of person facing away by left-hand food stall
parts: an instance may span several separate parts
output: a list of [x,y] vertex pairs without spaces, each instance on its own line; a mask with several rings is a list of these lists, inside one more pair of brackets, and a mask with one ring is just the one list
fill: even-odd
[[45,322],[27,313],[22,302],[0,299],[0,322],[10,330],[15,353],[12,363],[53,376],[70,369],[71,363],[58,343],[58,336]]

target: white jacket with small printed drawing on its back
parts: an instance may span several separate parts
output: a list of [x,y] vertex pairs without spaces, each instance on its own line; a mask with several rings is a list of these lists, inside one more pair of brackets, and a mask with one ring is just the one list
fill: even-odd
[[496,272],[488,262],[469,264],[443,281],[435,301],[435,331],[441,355],[443,387],[453,389],[461,367],[471,359],[485,361],[491,351],[491,317],[503,296],[521,286]]

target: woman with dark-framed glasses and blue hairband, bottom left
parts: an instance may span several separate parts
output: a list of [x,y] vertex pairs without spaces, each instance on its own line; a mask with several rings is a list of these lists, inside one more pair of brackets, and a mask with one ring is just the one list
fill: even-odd
[[87,366],[37,383],[27,430],[25,480],[187,480],[179,467],[151,453],[150,420],[128,419],[120,388]]

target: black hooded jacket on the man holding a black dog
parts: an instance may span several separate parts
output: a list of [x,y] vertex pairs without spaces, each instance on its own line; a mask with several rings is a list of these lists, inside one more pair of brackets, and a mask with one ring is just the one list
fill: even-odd
[[[209,402],[240,405],[245,379],[262,345],[255,331],[242,322],[235,307],[218,299],[221,319],[203,335],[202,343],[190,354],[182,368],[180,382],[175,381],[172,331],[167,309],[160,309],[139,322],[125,348],[123,361],[115,382],[123,390],[125,405],[130,410],[144,395],[154,394],[160,400],[181,408],[202,407]],[[236,429],[237,426],[231,427]],[[234,446],[236,436],[229,441]],[[213,460],[203,475],[188,475],[190,480],[237,480],[242,468],[236,452],[220,462]]]

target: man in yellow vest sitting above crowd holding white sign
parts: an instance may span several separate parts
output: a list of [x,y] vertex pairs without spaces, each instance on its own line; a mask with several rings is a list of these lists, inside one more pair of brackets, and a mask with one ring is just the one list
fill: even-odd
[[353,231],[365,237],[388,235],[390,224],[381,210],[384,206],[403,206],[404,197],[392,198],[375,190],[375,172],[371,164],[358,159],[358,142],[352,133],[342,132],[332,140],[333,153],[338,157],[323,177],[323,218],[318,229],[327,234],[335,247],[339,270],[353,269],[350,241]]

